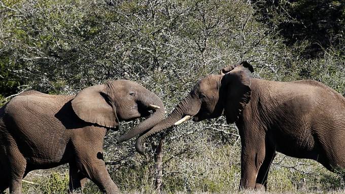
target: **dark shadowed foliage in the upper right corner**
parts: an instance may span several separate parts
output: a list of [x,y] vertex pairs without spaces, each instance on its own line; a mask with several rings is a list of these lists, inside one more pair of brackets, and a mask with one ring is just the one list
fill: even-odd
[[302,56],[322,56],[325,49],[343,45],[345,4],[342,0],[255,0],[259,20],[268,23],[286,39],[305,44]]

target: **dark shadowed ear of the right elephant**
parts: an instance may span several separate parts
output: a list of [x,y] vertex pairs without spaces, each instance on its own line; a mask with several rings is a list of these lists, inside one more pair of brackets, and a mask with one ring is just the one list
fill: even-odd
[[[249,70],[236,70],[226,73],[222,79],[225,84],[224,114],[228,124],[238,120],[241,111],[251,98],[250,88],[251,72]],[[222,84],[222,85],[223,85]]]

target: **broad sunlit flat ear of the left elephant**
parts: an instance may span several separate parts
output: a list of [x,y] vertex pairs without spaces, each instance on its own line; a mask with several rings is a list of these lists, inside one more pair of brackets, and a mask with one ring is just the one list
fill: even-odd
[[82,90],[72,100],[73,110],[83,121],[116,128],[119,124],[116,106],[111,103],[110,97],[103,90],[105,85]]

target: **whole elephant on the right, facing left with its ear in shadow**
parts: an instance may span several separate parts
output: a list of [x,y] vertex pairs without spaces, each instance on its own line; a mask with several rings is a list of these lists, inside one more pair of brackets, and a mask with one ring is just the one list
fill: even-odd
[[[252,78],[242,62],[201,79],[170,115],[136,141],[145,140],[186,115],[193,121],[224,114],[241,137],[240,188],[266,188],[275,151],[313,159],[330,171],[345,167],[345,98],[312,80],[271,82]],[[229,72],[228,72],[229,71]]]

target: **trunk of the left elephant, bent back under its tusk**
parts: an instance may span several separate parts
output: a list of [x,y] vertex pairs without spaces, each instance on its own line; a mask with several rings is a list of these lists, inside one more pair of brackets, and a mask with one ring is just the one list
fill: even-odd
[[156,107],[158,109],[155,109],[151,117],[146,119],[141,124],[135,126],[131,131],[116,138],[117,143],[127,141],[132,137],[146,132],[147,130],[155,126],[158,122],[160,122],[165,116],[165,108],[162,100],[149,90],[147,90],[146,93],[144,92],[143,94],[140,94],[140,96],[137,98],[137,101],[146,109],[153,109],[152,107]]

